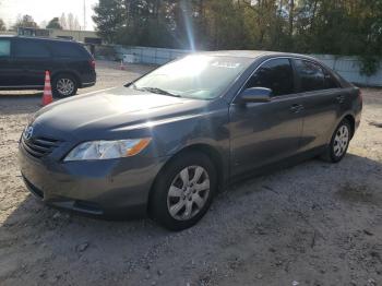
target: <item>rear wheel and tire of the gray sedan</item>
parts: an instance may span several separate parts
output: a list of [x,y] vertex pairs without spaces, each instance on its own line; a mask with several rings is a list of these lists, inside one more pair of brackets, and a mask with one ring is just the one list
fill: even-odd
[[348,120],[341,121],[335,129],[331,143],[326,146],[326,151],[322,154],[321,158],[330,163],[341,162],[349,147],[351,139],[351,127]]

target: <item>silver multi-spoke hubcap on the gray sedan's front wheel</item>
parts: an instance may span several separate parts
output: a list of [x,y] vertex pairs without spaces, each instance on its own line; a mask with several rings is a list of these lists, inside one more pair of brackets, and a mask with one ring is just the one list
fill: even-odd
[[168,212],[175,219],[190,219],[203,208],[208,193],[207,171],[201,166],[189,166],[172,180],[167,194]]

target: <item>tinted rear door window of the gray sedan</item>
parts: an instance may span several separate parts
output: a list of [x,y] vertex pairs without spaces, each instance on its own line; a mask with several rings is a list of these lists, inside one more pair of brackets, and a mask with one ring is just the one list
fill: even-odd
[[306,60],[295,60],[295,62],[301,81],[301,92],[327,88],[325,84],[325,74],[319,64]]

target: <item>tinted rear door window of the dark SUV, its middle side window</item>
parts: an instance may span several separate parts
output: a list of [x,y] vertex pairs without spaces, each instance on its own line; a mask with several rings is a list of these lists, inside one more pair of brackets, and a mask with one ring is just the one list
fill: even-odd
[[49,58],[50,51],[39,40],[16,40],[14,56],[16,58]]

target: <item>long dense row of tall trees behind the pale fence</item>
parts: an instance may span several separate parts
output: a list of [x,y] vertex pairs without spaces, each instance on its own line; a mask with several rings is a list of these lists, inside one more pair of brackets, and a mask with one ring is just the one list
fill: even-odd
[[95,13],[108,43],[358,56],[365,74],[382,56],[382,0],[100,0]]

